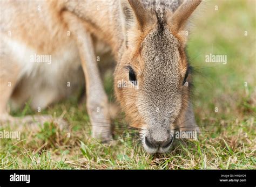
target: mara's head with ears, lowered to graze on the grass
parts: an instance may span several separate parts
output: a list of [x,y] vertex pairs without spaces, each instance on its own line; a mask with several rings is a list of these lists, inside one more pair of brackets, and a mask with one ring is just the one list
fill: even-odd
[[120,50],[114,90],[130,125],[142,128],[146,151],[163,153],[172,144],[172,128],[183,118],[190,95],[183,36],[186,20],[179,16],[191,14],[192,5],[181,5],[176,15],[177,11],[149,12],[138,1],[125,2],[124,15],[132,26],[125,28],[129,34]]

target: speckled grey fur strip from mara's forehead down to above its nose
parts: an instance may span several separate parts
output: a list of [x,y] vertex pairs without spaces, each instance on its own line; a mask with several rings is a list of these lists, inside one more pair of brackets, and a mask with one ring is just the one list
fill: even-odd
[[144,113],[149,117],[145,119],[147,123],[167,126],[173,123],[181,105],[178,91],[180,86],[178,41],[168,28],[164,27],[163,31],[156,28],[147,35],[142,46],[145,69],[140,89],[144,102],[139,102],[139,105],[145,105],[147,108],[147,112]]

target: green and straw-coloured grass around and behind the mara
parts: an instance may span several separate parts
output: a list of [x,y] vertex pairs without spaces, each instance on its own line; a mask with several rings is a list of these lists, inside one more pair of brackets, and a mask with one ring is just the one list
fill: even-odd
[[[194,20],[187,51],[195,69],[198,141],[175,141],[168,154],[147,154],[130,131],[120,128],[119,122],[125,123],[120,113],[113,121],[116,145],[102,145],[91,138],[86,109],[73,96],[41,112],[64,112],[70,129],[49,121],[31,132],[24,125],[21,140],[0,139],[0,169],[256,169],[254,7],[255,1],[207,2]],[[227,55],[227,64],[206,63],[210,53]],[[112,100],[112,77],[104,82]],[[12,114],[36,112],[26,105]]]

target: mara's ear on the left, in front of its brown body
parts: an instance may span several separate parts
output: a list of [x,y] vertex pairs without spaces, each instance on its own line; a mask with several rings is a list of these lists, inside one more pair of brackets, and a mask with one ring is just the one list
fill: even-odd
[[127,42],[135,40],[154,21],[154,17],[149,9],[146,9],[138,0],[120,0],[122,9],[123,31]]

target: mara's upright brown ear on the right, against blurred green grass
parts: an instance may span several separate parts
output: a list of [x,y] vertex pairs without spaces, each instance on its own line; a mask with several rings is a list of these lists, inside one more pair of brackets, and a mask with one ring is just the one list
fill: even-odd
[[176,34],[185,29],[188,18],[198,7],[202,0],[187,0],[179,6],[172,14],[167,15],[167,23],[170,25],[171,31]]

